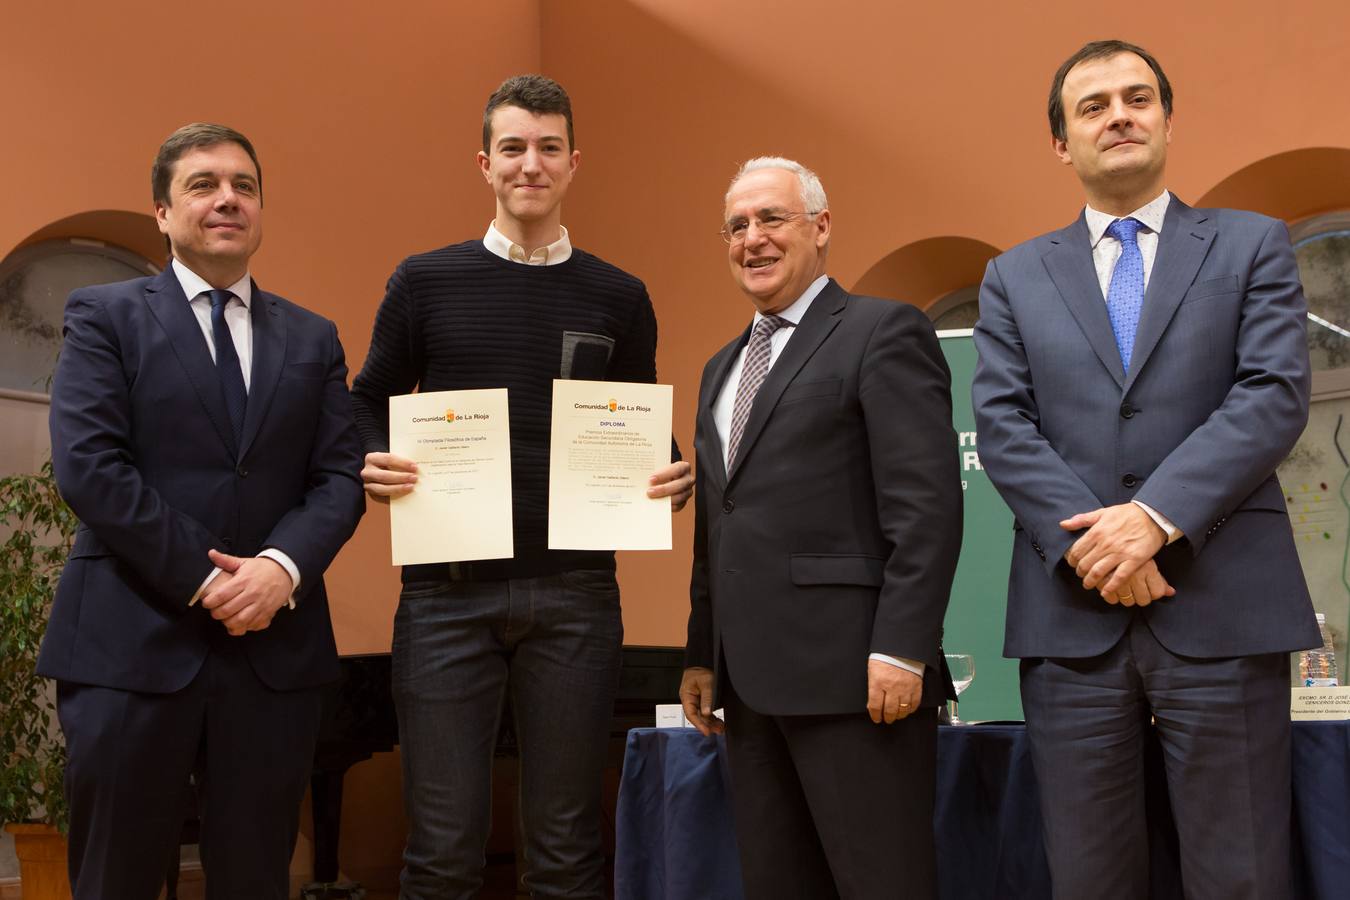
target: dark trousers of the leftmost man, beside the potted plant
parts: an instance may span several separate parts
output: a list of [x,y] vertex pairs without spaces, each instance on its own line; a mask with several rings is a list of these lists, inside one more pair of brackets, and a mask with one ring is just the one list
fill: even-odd
[[57,685],[76,900],[154,900],[197,776],[208,900],[285,900],[319,688],[274,691],[221,641],[173,694]]

